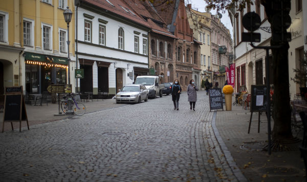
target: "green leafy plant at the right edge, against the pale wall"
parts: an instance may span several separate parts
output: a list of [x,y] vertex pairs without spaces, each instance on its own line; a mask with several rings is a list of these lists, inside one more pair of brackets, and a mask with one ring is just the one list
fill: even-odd
[[306,98],[307,51],[304,51],[303,58],[300,60],[300,67],[298,69],[293,69],[293,72],[295,73],[295,75],[294,78],[291,78],[291,80],[293,80],[294,83],[299,84],[300,94],[303,98]]

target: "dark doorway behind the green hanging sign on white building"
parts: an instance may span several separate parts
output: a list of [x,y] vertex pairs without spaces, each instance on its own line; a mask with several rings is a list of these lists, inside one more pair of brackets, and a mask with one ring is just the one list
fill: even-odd
[[93,92],[93,66],[81,64],[80,69],[84,69],[84,78],[80,78],[80,92]]

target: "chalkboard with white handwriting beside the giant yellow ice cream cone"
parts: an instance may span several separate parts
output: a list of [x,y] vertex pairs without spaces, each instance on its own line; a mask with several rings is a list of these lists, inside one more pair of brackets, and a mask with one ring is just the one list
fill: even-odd
[[209,105],[210,111],[216,109],[223,109],[223,98],[221,88],[211,88],[209,89]]

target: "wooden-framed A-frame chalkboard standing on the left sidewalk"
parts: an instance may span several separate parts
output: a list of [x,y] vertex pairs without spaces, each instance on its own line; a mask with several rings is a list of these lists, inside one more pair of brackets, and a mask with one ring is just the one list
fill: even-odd
[[12,130],[14,130],[12,122],[19,122],[19,131],[21,131],[21,121],[27,121],[28,129],[30,129],[23,95],[23,86],[6,87],[2,132],[4,131],[5,122],[11,122]]

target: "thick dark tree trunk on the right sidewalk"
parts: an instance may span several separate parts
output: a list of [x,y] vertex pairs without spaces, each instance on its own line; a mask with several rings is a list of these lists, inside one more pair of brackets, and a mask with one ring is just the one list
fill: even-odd
[[[286,0],[289,1],[290,0]],[[271,24],[272,35],[276,31],[274,30],[274,22],[272,21],[275,14],[280,11],[274,11],[272,9],[271,1],[261,0],[261,4],[264,5],[268,20]],[[284,11],[290,13],[290,11]],[[284,30],[287,32],[287,30]],[[288,42],[274,42],[271,39],[272,46],[281,45],[280,48],[272,49],[273,55],[273,73],[274,73],[274,97],[273,107],[274,112],[274,126],[272,131],[272,139],[274,142],[282,142],[284,140],[293,139],[291,131],[291,108],[290,108],[290,95],[289,95],[289,63],[288,63]],[[267,68],[266,68],[267,69]],[[267,80],[269,81],[269,80]]]

